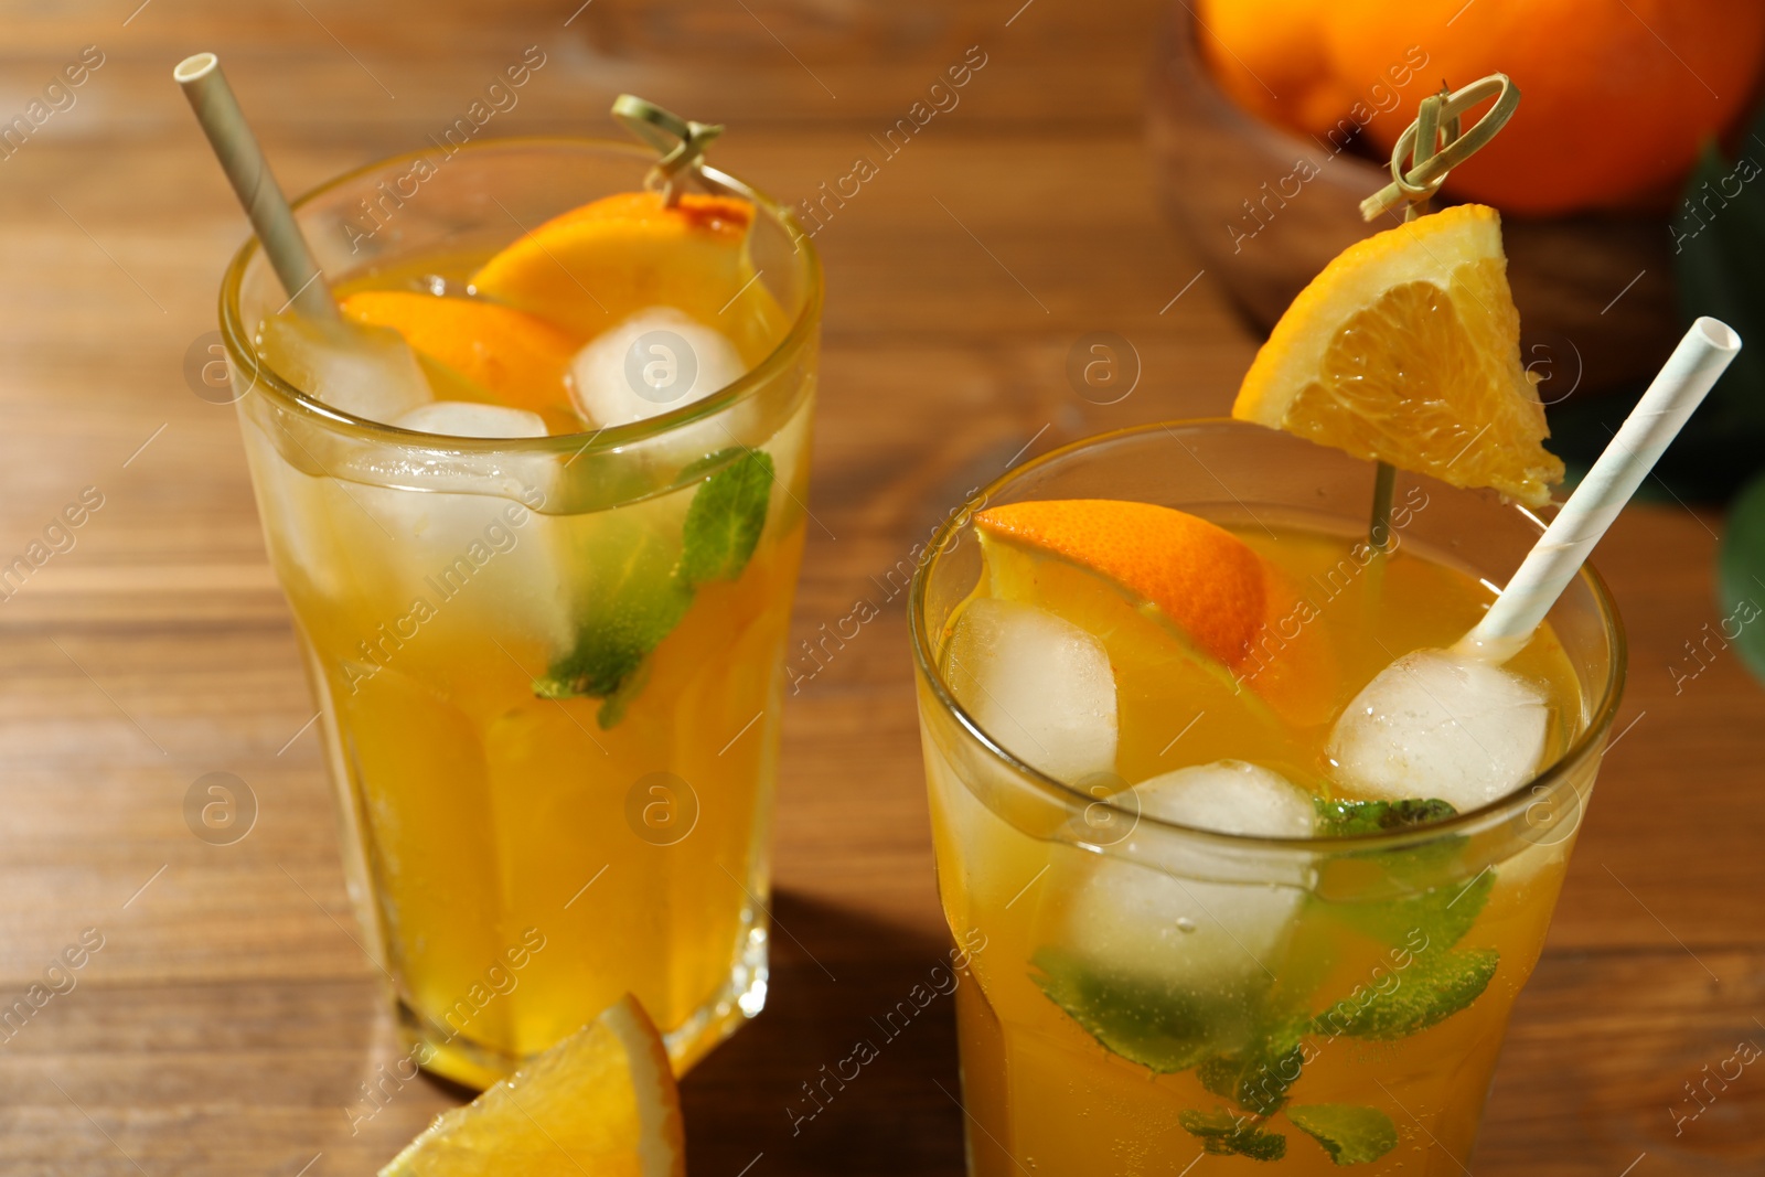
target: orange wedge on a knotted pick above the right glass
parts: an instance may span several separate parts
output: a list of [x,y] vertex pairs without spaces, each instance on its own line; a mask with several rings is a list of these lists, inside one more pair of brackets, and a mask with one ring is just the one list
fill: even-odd
[[1564,469],[1534,383],[1500,217],[1458,205],[1324,266],[1262,344],[1232,416],[1543,506]]

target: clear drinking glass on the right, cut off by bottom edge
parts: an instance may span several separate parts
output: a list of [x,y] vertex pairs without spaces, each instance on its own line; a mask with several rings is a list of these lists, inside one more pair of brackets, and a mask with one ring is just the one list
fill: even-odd
[[[1407,485],[1405,558],[1502,582],[1541,531],[1493,494]],[[1352,552],[1370,491],[1364,462],[1214,420],[1078,443],[983,494],[1138,499]],[[1338,570],[1343,589],[1382,575],[1338,563],[1303,591],[1324,600]],[[1389,572],[1386,609],[1430,607]],[[1550,614],[1567,686],[1558,755],[1534,780],[1437,824],[1258,838],[1158,821],[1119,780],[1063,783],[983,731],[944,676],[980,574],[958,515],[911,603],[939,895],[974,981],[957,1004],[969,1172],[1175,1177],[1232,1154],[1244,1172],[1461,1173],[1619,699],[1599,579],[1583,572]],[[1188,720],[1170,732],[1230,725],[1204,715],[1183,736]]]

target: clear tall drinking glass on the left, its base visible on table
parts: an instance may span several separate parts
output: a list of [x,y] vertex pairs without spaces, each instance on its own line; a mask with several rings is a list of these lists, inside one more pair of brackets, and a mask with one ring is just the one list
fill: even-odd
[[[459,282],[524,228],[641,187],[651,162],[588,139],[425,150],[295,214],[334,284]],[[256,240],[221,289],[349,893],[411,1059],[471,1085],[627,992],[676,1069],[766,1001],[821,270],[789,212],[711,176],[754,203],[755,281],[787,328],[722,392],[595,434],[443,438],[327,408],[256,358],[288,300]],[[731,519],[759,528],[740,566],[717,563],[743,542],[717,531]],[[611,697],[556,697],[552,667],[590,639],[639,669]]]

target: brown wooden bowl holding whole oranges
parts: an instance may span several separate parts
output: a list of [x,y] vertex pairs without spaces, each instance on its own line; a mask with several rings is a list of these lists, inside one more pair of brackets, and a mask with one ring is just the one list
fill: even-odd
[[[1190,12],[1172,5],[1149,111],[1160,199],[1209,277],[1269,328],[1331,258],[1391,224],[1368,224],[1359,210],[1391,173],[1338,150],[1334,136],[1320,143],[1243,111],[1214,83],[1195,37]],[[1412,118],[1416,97],[1412,85],[1403,108],[1378,116]],[[1548,376],[1546,404],[1576,386],[1647,379],[1673,349],[1679,309],[1663,215],[1504,215],[1502,236],[1521,360]]]

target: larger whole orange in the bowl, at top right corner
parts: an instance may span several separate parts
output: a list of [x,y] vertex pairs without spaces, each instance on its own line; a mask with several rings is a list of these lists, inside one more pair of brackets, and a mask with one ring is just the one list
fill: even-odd
[[1428,81],[1366,127],[1382,154],[1442,78],[1454,88],[1495,71],[1514,79],[1514,116],[1446,189],[1516,214],[1670,198],[1703,143],[1746,109],[1765,62],[1765,5],[1733,0],[1341,0],[1327,11],[1338,78],[1377,76],[1408,46],[1428,51]]

